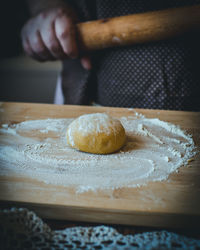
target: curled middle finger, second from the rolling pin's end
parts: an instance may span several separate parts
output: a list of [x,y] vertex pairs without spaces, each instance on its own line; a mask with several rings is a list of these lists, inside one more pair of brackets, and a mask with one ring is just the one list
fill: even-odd
[[54,22],[52,24],[45,24],[41,31],[41,39],[54,58],[64,59],[66,58],[66,54],[56,37],[54,26]]

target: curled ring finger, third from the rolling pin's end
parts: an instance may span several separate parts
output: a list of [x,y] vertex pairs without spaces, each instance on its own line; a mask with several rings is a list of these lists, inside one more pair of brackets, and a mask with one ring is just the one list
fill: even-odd
[[55,59],[44,45],[39,31],[36,31],[35,34],[31,36],[29,42],[33,53],[41,58],[41,60],[46,61]]

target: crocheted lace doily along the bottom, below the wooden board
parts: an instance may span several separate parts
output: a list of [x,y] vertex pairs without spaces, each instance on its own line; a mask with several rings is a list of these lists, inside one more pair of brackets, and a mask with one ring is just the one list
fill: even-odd
[[1,249],[197,249],[200,240],[167,231],[122,235],[107,226],[53,231],[25,208],[0,210]]

